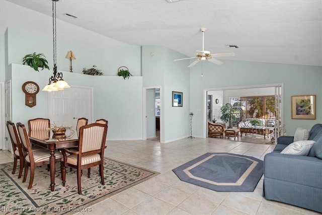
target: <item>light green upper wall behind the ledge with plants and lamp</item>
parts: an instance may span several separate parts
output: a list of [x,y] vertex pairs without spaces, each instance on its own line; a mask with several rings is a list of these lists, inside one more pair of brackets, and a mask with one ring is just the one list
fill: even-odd
[[[8,64],[22,64],[26,54],[33,52],[43,53],[52,68],[52,38],[30,32],[8,28]],[[116,76],[120,66],[127,66],[133,76],[141,76],[141,47],[124,45],[108,49],[89,49],[57,40],[57,66],[59,70],[69,71],[70,61],[65,58],[72,50],[76,59],[72,60],[73,73],[83,74],[83,68],[92,68],[96,65],[104,76]]]

